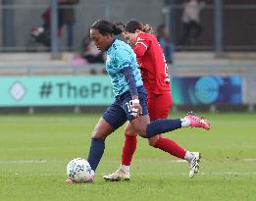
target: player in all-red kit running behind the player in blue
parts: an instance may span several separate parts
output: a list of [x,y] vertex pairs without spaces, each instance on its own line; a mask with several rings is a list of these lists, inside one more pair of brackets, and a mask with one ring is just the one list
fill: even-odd
[[[170,76],[163,50],[155,35],[151,34],[152,27],[142,25],[137,21],[129,21],[125,25],[124,37],[136,54],[136,60],[147,91],[147,108],[150,121],[167,119],[173,100],[170,90]],[[186,117],[190,118],[191,115]],[[129,165],[136,149],[136,133],[128,123],[126,126],[126,141],[123,147],[122,165],[113,174],[103,176],[105,180],[128,180]],[[148,139],[149,145],[173,156],[184,159],[189,164],[189,177],[193,177],[199,169],[200,153],[189,152],[180,147],[172,139],[158,134]]]

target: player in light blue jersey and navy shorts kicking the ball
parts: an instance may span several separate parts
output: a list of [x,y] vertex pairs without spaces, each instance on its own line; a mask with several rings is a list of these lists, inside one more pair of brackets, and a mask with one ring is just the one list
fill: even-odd
[[[191,120],[184,118],[157,120],[150,123],[146,92],[137,68],[135,54],[127,43],[113,37],[120,33],[122,33],[121,28],[104,20],[99,20],[90,27],[90,37],[95,46],[107,52],[106,71],[110,76],[115,95],[114,103],[103,114],[92,132],[87,161],[94,172],[103,156],[106,137],[127,121],[135,132],[144,138],[151,138],[158,133],[180,127],[210,128],[208,122],[197,116],[193,116]],[[67,182],[74,181],[68,179]]]

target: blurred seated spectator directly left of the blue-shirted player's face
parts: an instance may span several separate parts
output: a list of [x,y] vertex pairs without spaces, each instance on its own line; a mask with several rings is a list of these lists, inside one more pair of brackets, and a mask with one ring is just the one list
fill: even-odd
[[89,34],[82,39],[81,56],[88,63],[104,63],[104,53],[97,49]]

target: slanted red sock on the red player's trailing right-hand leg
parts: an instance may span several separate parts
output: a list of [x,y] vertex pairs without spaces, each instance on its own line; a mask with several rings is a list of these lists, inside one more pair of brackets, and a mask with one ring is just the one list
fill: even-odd
[[180,147],[177,142],[169,138],[159,137],[154,147],[168,152],[180,159],[183,159],[185,155],[185,150]]

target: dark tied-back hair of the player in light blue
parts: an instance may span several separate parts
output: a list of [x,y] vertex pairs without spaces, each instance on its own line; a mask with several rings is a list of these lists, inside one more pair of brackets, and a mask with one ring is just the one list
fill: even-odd
[[107,35],[107,34],[114,34],[119,35],[122,33],[122,28],[120,28],[118,25],[123,25],[121,23],[112,24],[105,20],[98,20],[94,24],[90,26],[90,28],[94,28],[99,30],[100,34]]

